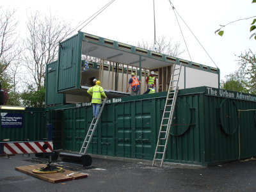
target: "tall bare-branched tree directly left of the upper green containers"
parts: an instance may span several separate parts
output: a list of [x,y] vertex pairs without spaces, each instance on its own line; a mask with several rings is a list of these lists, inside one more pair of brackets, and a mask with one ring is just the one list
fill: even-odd
[[[33,83],[25,80],[24,84],[32,97],[44,90],[46,65],[57,60],[59,42],[71,35],[72,29],[70,23],[59,20],[56,15],[52,16],[51,13],[41,15],[39,12],[30,13],[26,26],[28,36],[24,41],[26,51],[23,63],[28,71],[26,77],[32,79]],[[26,94],[23,92],[22,95]],[[22,99],[26,98],[22,97]],[[37,97],[37,99],[43,99],[43,97]],[[26,103],[26,100],[24,102]],[[38,100],[38,102],[39,104],[34,103],[33,106],[42,106],[44,100]]]

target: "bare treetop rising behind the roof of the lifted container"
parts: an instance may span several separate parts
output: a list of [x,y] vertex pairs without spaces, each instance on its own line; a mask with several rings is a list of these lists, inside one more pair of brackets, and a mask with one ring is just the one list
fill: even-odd
[[181,48],[182,43],[174,42],[173,38],[170,40],[166,40],[166,36],[163,35],[161,37],[156,38],[156,46],[154,42],[148,44],[148,42],[143,39],[140,42],[136,43],[137,47],[141,47],[143,49],[148,49],[150,51],[160,52],[169,56],[182,58],[182,54],[186,52],[186,49]]

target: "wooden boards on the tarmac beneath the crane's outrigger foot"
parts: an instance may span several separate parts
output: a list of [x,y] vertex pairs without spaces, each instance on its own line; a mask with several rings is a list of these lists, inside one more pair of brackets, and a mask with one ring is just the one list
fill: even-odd
[[[73,179],[83,179],[88,177],[88,174],[84,173],[77,173],[77,172],[72,172],[65,170],[65,172],[62,173],[46,173],[46,174],[38,174],[38,173],[33,173],[32,171],[37,169],[37,168],[44,168],[46,167],[46,164],[34,164],[34,165],[29,165],[29,166],[18,166],[15,167],[15,170],[26,173],[28,175],[31,175],[33,177],[36,177],[38,179],[42,180],[47,180],[49,182],[57,183],[57,182],[65,182],[68,180],[73,180]],[[74,173],[73,175],[67,176],[67,174]]]

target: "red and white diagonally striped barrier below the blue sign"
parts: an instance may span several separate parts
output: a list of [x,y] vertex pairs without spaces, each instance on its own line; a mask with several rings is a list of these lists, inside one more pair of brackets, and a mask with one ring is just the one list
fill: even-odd
[[1,142],[0,154],[51,153],[52,148],[52,141]]

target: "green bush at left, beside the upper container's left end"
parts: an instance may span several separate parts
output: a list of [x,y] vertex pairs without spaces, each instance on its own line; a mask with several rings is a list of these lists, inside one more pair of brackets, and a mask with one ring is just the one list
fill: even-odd
[[20,98],[26,107],[44,108],[45,102],[45,88],[41,87],[39,90],[34,90],[33,86],[28,86],[28,89],[21,93]]

